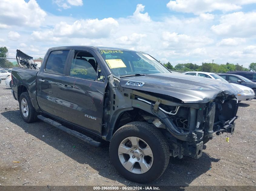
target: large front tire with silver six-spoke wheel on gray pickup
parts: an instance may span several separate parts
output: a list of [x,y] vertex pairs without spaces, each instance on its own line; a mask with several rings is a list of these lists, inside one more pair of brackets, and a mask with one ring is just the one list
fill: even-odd
[[170,158],[164,136],[145,122],[131,122],[118,129],[111,139],[109,154],[116,170],[137,183],[158,179]]

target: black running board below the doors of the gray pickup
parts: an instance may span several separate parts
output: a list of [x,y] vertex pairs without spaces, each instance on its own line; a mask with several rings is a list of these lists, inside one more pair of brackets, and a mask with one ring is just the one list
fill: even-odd
[[102,145],[101,142],[97,142],[95,140],[93,140],[91,137],[88,137],[82,133],[79,133],[77,131],[74,131],[72,129],[68,129],[67,127],[63,126],[62,124],[52,120],[52,119],[49,119],[49,118],[46,118],[42,115],[38,115],[37,116],[38,119],[41,119],[42,121],[52,125],[52,126],[55,126],[57,127],[58,129],[62,130],[62,131],[65,131],[66,133],[70,134],[70,135],[73,135],[79,139],[81,139],[82,141],[84,142],[87,142],[88,144],[92,145],[92,146],[95,146],[95,147],[100,147]]

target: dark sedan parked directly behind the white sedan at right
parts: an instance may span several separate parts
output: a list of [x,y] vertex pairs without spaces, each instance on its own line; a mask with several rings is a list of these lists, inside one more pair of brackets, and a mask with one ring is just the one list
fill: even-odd
[[227,74],[227,73],[226,74],[218,74],[218,75],[230,83],[241,84],[241,85],[244,85],[244,86],[247,86],[247,87],[253,89],[253,91],[255,93],[255,97],[256,97],[256,82],[253,82],[253,81],[249,80],[248,78],[245,78],[244,76],[241,76],[241,75]]

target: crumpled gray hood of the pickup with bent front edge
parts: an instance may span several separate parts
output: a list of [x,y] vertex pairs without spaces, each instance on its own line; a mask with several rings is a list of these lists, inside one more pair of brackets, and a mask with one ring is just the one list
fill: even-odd
[[[144,82],[141,87],[126,85],[128,81]],[[229,83],[176,73],[147,74],[120,79],[123,88],[169,95],[185,103],[207,103],[218,94],[236,96],[241,90]]]

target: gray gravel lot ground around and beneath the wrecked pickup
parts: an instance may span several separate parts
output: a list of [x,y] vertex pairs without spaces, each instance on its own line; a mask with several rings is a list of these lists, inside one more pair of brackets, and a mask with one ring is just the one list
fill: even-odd
[[[0,185],[138,185],[111,165],[108,145],[94,148],[38,121],[25,123],[0,84]],[[241,102],[234,135],[215,135],[198,160],[171,158],[152,185],[256,185],[256,100]],[[19,161],[15,163],[13,161]]]

